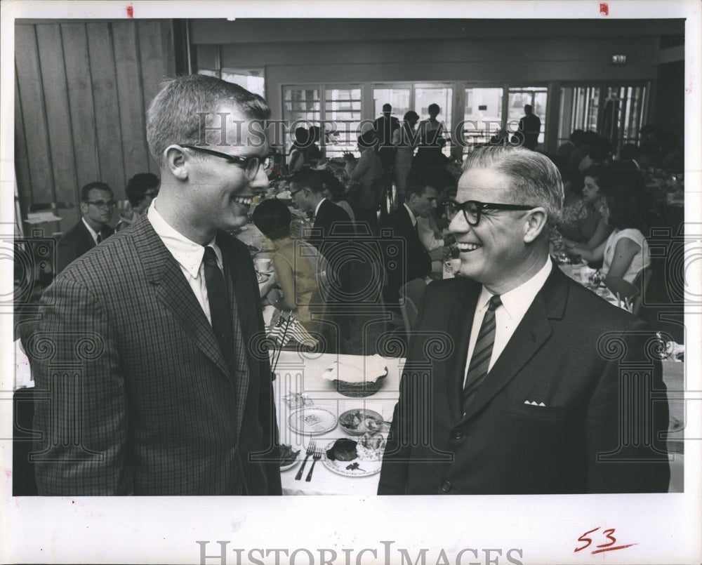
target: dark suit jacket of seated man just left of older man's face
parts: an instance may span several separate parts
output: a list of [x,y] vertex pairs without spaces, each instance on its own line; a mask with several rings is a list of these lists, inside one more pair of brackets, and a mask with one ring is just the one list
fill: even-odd
[[[380,225],[390,229],[394,239],[402,240],[403,246],[383,243],[385,270],[388,285],[385,287],[385,300],[397,302],[397,291],[412,279],[423,279],[432,270],[432,260],[422,245],[417,230],[412,225],[407,208],[397,206]],[[381,242],[383,242],[381,240]]]

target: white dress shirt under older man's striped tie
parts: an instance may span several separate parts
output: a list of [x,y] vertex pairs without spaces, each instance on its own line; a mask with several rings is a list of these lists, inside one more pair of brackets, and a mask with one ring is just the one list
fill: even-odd
[[[512,288],[511,291],[500,295],[502,305],[495,310],[495,343],[492,346],[492,357],[488,371],[493,367],[500,354],[505,349],[512,334],[515,333],[519,322],[524,318],[534,298],[541,290],[541,287],[548,279],[551,273],[552,262],[549,257],[541,270],[531,277],[527,282]],[[490,303],[492,294],[483,286],[478,297],[478,302],[475,307],[475,316],[473,317],[473,326],[470,330],[470,340],[468,340],[468,361],[465,364],[465,372],[468,375],[468,367],[470,366],[470,357],[475,349],[475,342],[478,338],[482,319],[485,315],[487,307]],[[488,375],[489,378],[489,375]]]

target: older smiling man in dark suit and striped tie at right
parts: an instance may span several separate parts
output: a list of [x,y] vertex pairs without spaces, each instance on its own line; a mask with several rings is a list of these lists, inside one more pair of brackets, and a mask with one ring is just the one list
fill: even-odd
[[461,276],[420,302],[379,494],[668,491],[655,333],[552,264],[562,201],[542,154],[466,157],[446,203]]

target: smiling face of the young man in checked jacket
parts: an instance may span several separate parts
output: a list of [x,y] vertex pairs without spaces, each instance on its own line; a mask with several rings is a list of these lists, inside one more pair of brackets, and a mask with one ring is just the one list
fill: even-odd
[[[209,148],[237,157],[259,157],[263,161],[269,152],[268,143],[248,131],[250,120],[234,105],[221,105],[218,112],[227,115],[228,145],[211,143]],[[241,127],[233,122],[240,122]],[[235,230],[245,225],[254,192],[268,187],[263,166],[250,179],[243,164],[230,163],[213,155],[196,154],[190,149],[185,151],[189,152],[190,157],[190,186],[187,188],[190,222],[212,235],[216,230]]]

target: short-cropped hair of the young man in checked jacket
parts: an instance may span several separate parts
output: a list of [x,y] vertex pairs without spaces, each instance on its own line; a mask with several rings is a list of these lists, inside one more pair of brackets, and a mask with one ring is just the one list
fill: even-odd
[[[270,118],[270,107],[265,100],[238,84],[204,74],[164,81],[151,102],[146,120],[149,150],[157,163],[163,165],[164,152],[169,145],[204,145],[206,137],[221,135],[220,131],[210,131],[206,136],[208,130],[203,126],[211,128],[216,120],[223,119],[216,114],[223,104],[237,106],[249,119]],[[263,127],[259,129],[263,131]],[[236,128],[232,130],[237,131]]]

